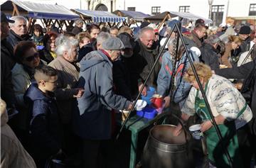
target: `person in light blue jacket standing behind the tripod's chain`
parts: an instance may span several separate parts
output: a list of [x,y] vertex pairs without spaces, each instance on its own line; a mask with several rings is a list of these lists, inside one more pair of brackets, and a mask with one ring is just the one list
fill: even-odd
[[[166,101],[166,107],[169,106],[171,100],[169,95],[169,89],[171,89],[171,77],[173,75],[172,73],[175,60],[173,48],[174,43],[176,43],[175,38],[169,40],[169,43],[167,44],[169,50],[166,51],[162,57],[161,69],[157,77],[157,93],[161,96],[164,96],[164,100]],[[196,55],[196,52],[193,52],[191,50],[189,50],[189,52],[191,60],[198,62],[199,59],[198,55]],[[189,65],[190,64],[185,52],[185,48],[180,42],[178,47],[178,58],[176,60],[176,74],[174,79],[174,86],[176,89],[174,89],[174,99],[172,100],[175,103],[183,102],[183,100],[186,99],[189,90],[191,89],[191,85],[183,80],[183,74],[184,72],[186,72],[186,69],[188,69]]]

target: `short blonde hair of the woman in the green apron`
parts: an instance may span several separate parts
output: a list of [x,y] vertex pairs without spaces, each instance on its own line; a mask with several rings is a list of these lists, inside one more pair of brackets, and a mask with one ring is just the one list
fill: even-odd
[[[193,63],[193,65],[196,69],[196,73],[198,74],[198,77],[200,79],[203,79],[204,82],[207,82],[208,79],[210,79],[210,77],[213,75],[213,72],[211,72],[211,69],[208,65],[205,65],[202,62],[196,62],[196,63]],[[192,67],[189,67],[186,73],[187,74],[184,77],[184,79],[187,82],[192,83],[193,81],[196,80],[195,74],[193,74]]]

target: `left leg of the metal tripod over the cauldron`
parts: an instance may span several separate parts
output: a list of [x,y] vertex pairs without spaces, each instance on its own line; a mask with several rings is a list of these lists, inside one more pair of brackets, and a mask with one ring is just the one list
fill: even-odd
[[[175,28],[175,26],[174,26],[174,28]],[[171,29],[171,33],[173,33],[174,28]],[[167,42],[169,41],[169,38],[171,37],[171,33],[167,36],[166,41],[164,42],[164,47],[166,46]],[[127,115],[127,118],[125,119],[124,123],[122,123],[122,126],[121,126],[121,128],[120,128],[120,130],[119,130],[119,133],[117,134],[116,140],[119,138],[119,135],[122,133],[122,130],[123,130],[123,128],[124,128],[124,125],[127,123],[130,114],[131,114],[132,111],[134,110],[134,106],[135,106],[136,102],[138,101],[139,96],[142,94],[142,91],[143,91],[143,89],[144,89],[144,86],[146,85],[146,82],[149,80],[149,77],[150,77],[150,75],[152,74],[152,72],[153,72],[153,70],[154,70],[154,67],[156,66],[157,62],[159,61],[159,58],[160,58],[160,56],[161,56],[161,53],[164,51],[164,47],[162,47],[162,49],[160,50],[159,55],[156,57],[156,60],[155,60],[155,62],[154,62],[153,67],[150,69],[149,74],[146,76],[146,79],[145,79],[145,82],[144,82],[144,84],[143,84],[143,86],[142,86],[142,89],[140,89],[139,94],[137,95],[137,98],[136,98],[135,101],[132,103],[132,109],[129,111],[129,113],[128,113],[128,115]]]

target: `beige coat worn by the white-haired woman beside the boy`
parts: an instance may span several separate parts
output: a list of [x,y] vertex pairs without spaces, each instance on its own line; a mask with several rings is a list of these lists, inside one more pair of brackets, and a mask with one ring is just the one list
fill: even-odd
[[54,93],[62,123],[70,123],[74,111],[73,95],[78,94],[76,86],[78,82],[78,67],[59,56],[49,63],[50,67],[58,70],[58,86]]

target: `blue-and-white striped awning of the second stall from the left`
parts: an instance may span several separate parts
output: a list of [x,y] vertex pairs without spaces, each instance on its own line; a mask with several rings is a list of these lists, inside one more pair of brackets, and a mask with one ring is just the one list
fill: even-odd
[[125,21],[124,17],[119,17],[113,13],[108,11],[88,11],[88,10],[81,10],[81,9],[72,9],[75,13],[82,14],[85,18],[90,17],[92,22],[123,22]]

